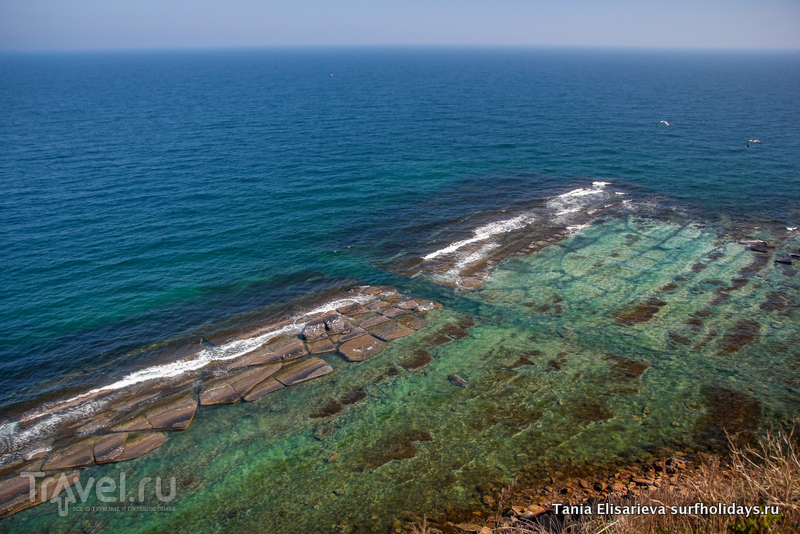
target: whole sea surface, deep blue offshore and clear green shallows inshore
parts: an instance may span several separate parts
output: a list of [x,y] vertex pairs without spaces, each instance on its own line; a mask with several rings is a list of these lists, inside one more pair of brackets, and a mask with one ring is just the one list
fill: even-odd
[[[376,382],[385,374],[379,359],[395,346],[417,350],[414,343],[424,341],[417,334],[363,364],[327,355],[340,377],[332,382],[281,392],[274,405],[268,397],[201,408],[189,429],[150,456],[90,468],[178,473],[176,511],[140,521],[125,512],[62,517],[44,505],[0,523],[12,531],[69,531],[82,522],[109,532],[163,525],[212,532],[223,524],[227,532],[254,524],[282,532],[309,525],[383,531],[401,513],[474,507],[482,480],[507,483],[537,462],[614,463],[658,447],[712,447],[714,436],[699,440],[688,429],[713,427],[724,410],[709,399],[741,400],[736,395],[749,395],[748,387],[758,391],[756,401],[737,406],[756,402],[748,409],[759,422],[741,423],[740,431],[797,411],[800,278],[770,261],[744,300],[720,298],[738,295],[720,287],[747,278],[753,253],[735,245],[737,238],[777,242],[784,252],[800,247],[788,229],[800,226],[796,54],[17,54],[0,57],[0,73],[0,464],[16,465],[60,435],[58,413],[47,424],[21,424],[31,414],[97,388],[146,382],[155,376],[148,369],[157,375],[164,372],[158,366],[202,351],[201,338],[224,346],[311,310],[342,287],[396,286],[444,304],[441,315],[426,318],[429,327],[455,321],[469,331],[436,345],[441,352],[429,349],[428,371],[409,366],[405,381],[390,374]],[[748,147],[751,139],[760,143]],[[538,232],[537,225],[542,235],[560,232],[555,244],[511,255],[493,241]],[[634,234],[625,246],[641,247],[641,255],[628,258],[617,248]],[[680,245],[668,245],[675,240]],[[469,254],[426,268],[463,247]],[[492,272],[480,275],[479,290],[463,291],[453,265],[489,253],[499,254]],[[702,259],[708,254],[724,266],[715,271]],[[698,262],[704,267],[688,272],[706,278],[670,298],[664,295],[673,290],[657,291],[675,277],[691,278],[681,269]],[[658,313],[656,320],[620,311],[648,298],[662,304],[651,300],[655,312],[639,311]],[[776,299],[777,308],[762,306]],[[701,308],[723,310],[719,322],[686,326]],[[755,342],[739,343],[747,333],[725,334],[752,331],[742,321],[760,325],[750,336]],[[640,323],[653,331],[636,330]],[[684,343],[690,336],[677,324],[707,339]],[[667,339],[677,340],[673,348],[664,348]],[[609,354],[647,360],[648,370]],[[525,379],[503,378],[520,357],[532,369],[540,358],[541,368]],[[499,367],[481,374],[490,360]],[[663,375],[653,362],[663,364]],[[603,374],[609,366],[612,378]],[[552,368],[563,377],[543,381]],[[571,380],[582,383],[562,368],[593,376],[578,388],[584,400],[575,400],[577,412],[553,408],[567,401]],[[447,380],[470,370],[470,385],[482,386],[453,388]],[[619,405],[591,400],[619,399],[607,389],[620,376],[639,381],[629,392],[639,397]],[[489,385],[492,394],[481,390]],[[368,399],[339,419],[320,423],[306,413],[315,399],[353,387]],[[486,395],[504,399],[487,407]],[[674,413],[678,397],[705,408],[647,430],[627,423],[598,429],[628,408],[641,412],[643,403]],[[408,447],[418,454],[380,463],[353,448],[361,439],[384,443],[381,429],[410,431],[410,421],[429,410],[431,439]],[[473,420],[475,413],[491,414],[491,424]],[[319,439],[320,424],[341,435]],[[587,427],[580,439],[571,433],[575,425]],[[546,428],[535,446],[523,439],[539,427]],[[447,448],[455,458],[445,461]],[[343,461],[317,461],[334,454]],[[344,461],[348,454],[352,463]],[[406,465],[423,457],[422,467]],[[324,489],[316,494],[312,486]]]

